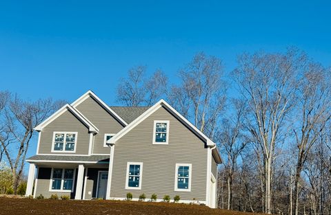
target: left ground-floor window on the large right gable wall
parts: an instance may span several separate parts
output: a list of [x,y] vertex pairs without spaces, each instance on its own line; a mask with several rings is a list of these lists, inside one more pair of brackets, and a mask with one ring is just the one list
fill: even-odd
[[143,175],[143,163],[128,162],[126,169],[126,189],[140,190]]

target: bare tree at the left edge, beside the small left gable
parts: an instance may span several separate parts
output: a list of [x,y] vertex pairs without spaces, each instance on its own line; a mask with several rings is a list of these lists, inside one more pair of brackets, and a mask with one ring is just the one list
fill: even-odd
[[53,102],[51,99],[26,102],[17,95],[10,96],[1,117],[4,129],[0,134],[0,143],[12,170],[14,194],[23,175],[26,153],[34,135],[33,128],[59,109],[61,104],[61,101]]

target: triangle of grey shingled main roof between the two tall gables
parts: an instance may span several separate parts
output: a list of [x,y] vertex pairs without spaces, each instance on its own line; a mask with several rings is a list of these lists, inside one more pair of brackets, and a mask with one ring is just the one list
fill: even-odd
[[150,106],[110,106],[128,124],[147,111]]

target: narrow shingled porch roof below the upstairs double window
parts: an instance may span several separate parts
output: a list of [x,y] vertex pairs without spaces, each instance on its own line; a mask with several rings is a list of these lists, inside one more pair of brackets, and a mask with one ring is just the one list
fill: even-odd
[[110,155],[90,155],[90,156],[72,156],[72,155],[34,155],[29,157],[28,161],[87,161],[97,163],[109,163]]

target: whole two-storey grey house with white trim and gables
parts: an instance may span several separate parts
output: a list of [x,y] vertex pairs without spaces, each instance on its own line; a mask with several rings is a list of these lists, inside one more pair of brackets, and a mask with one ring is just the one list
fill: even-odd
[[133,200],[179,195],[183,203],[217,207],[219,152],[164,100],[108,106],[88,91],[34,129],[27,196],[121,200],[131,192]]

